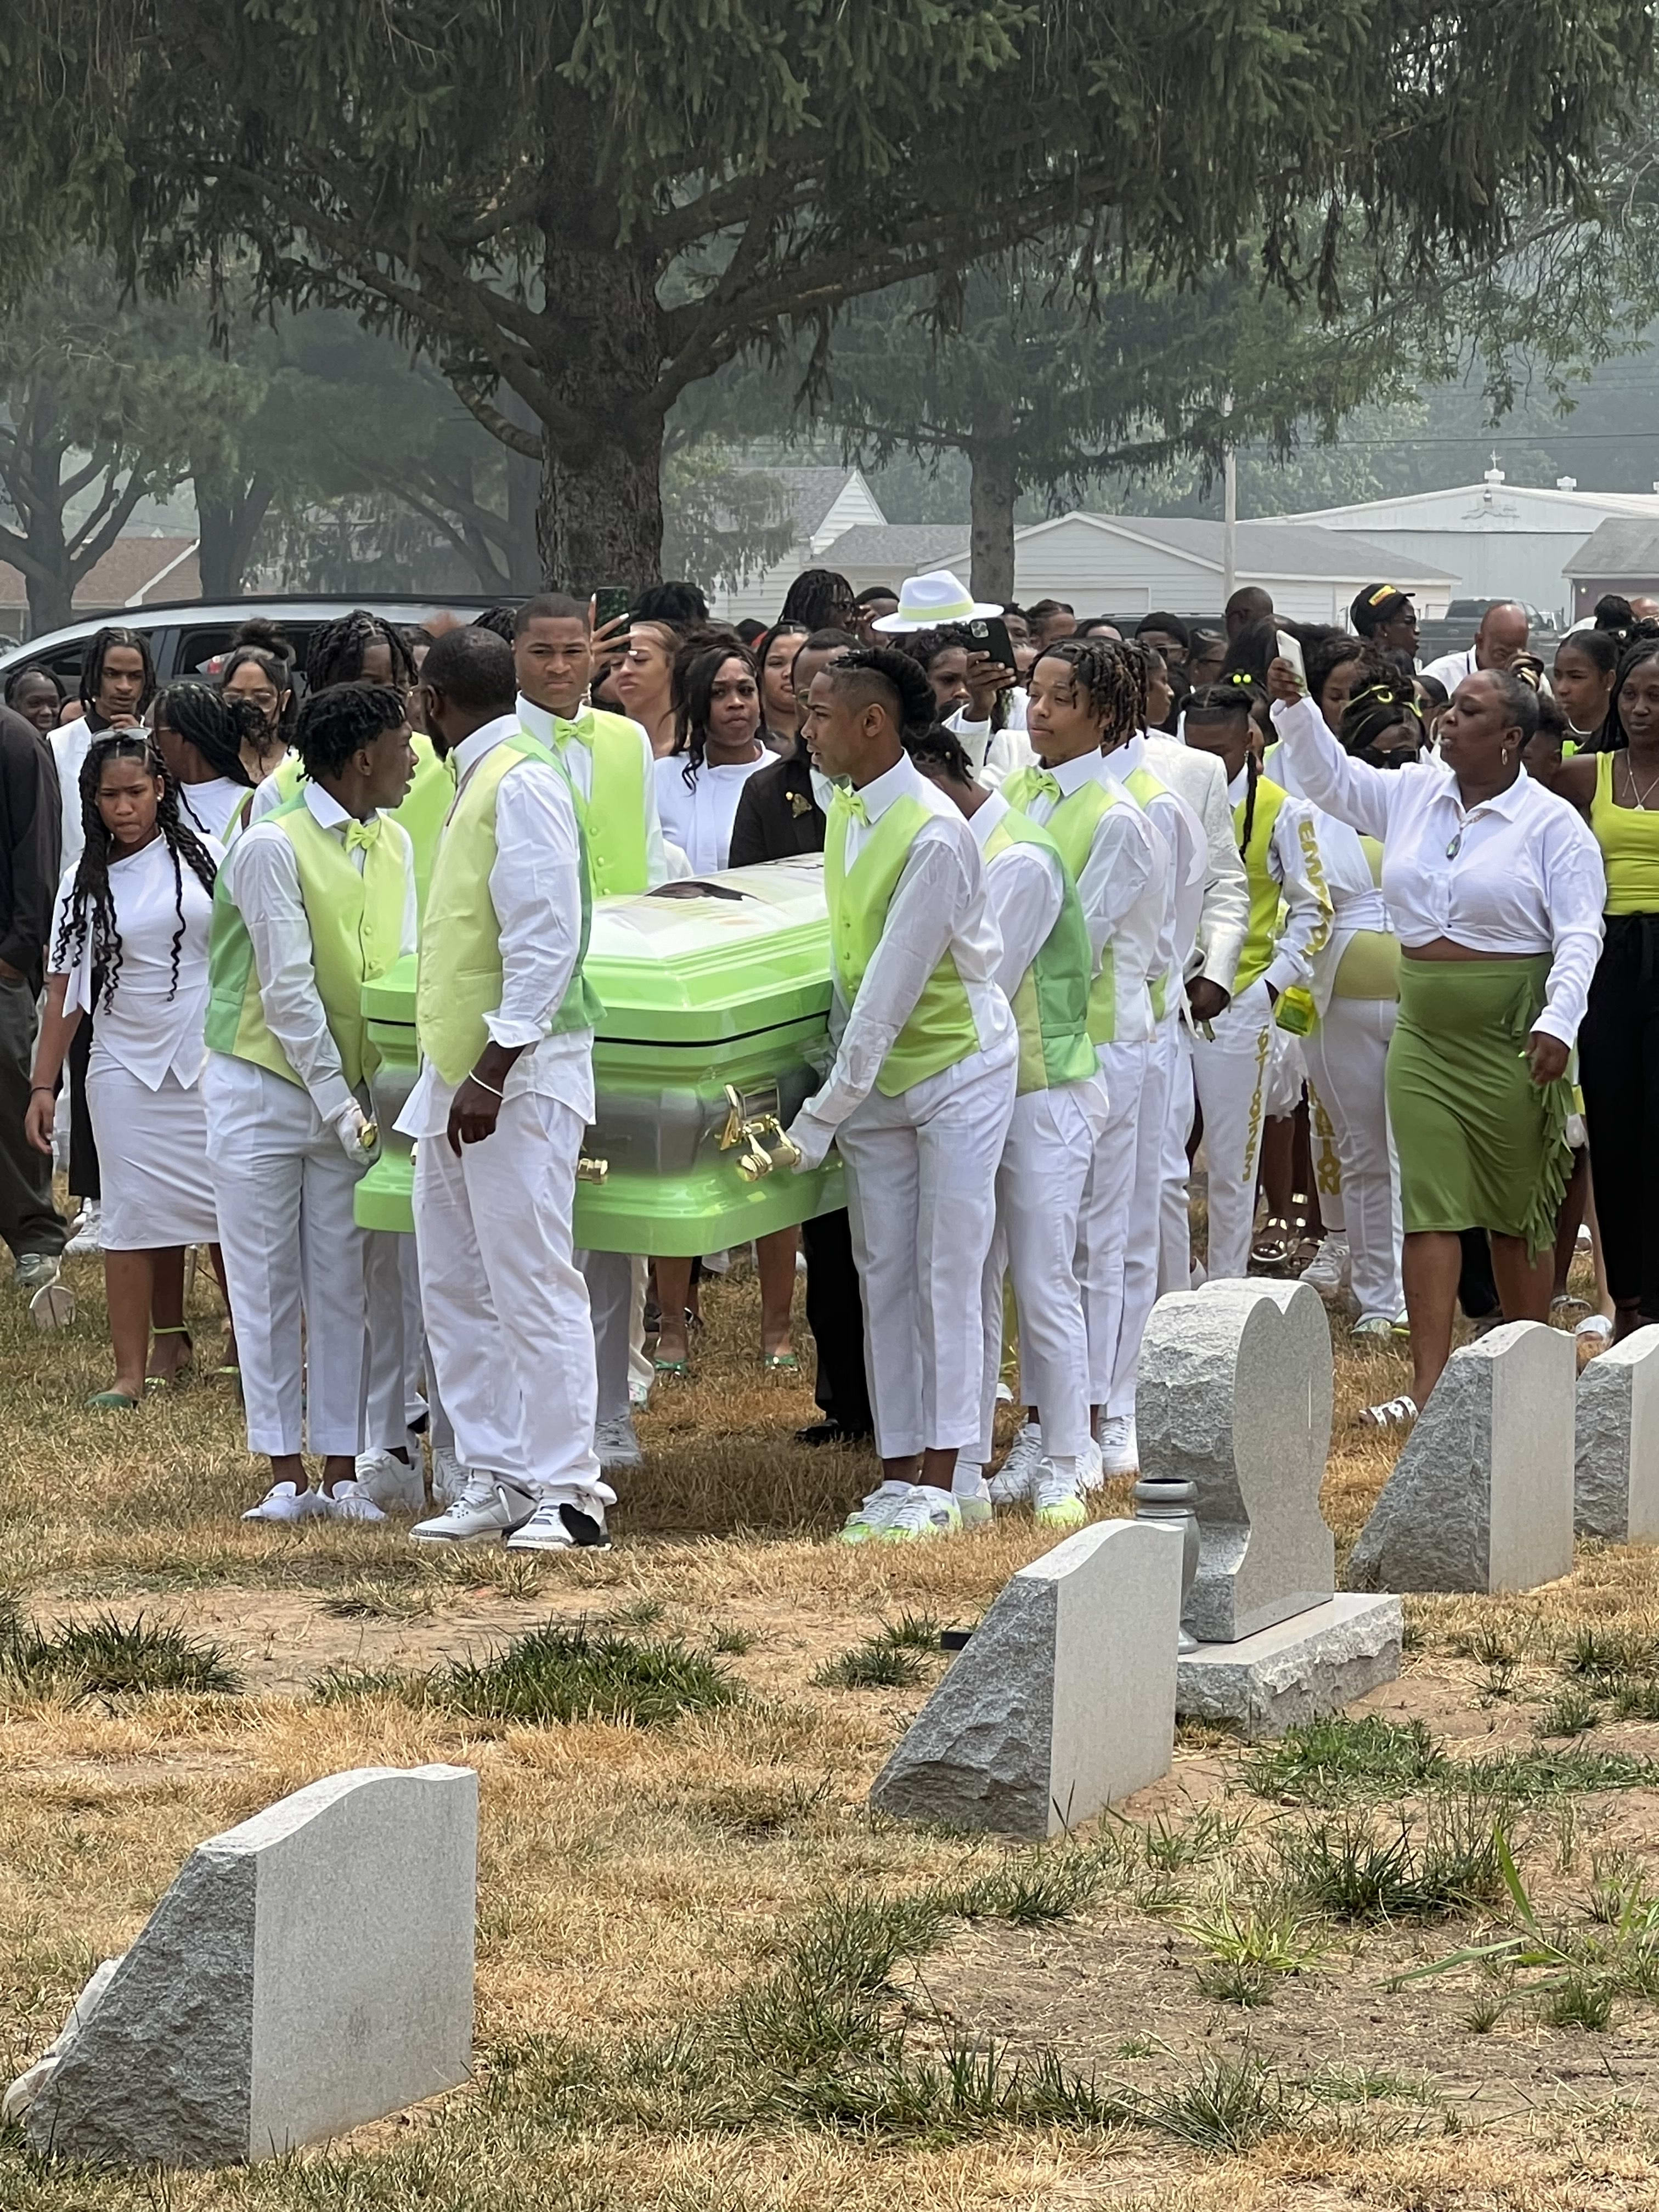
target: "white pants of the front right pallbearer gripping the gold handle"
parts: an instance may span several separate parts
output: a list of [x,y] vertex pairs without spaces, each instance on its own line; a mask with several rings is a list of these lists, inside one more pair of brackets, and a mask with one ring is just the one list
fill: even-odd
[[995,1230],[1015,1053],[1011,1031],[989,1053],[898,1097],[872,1091],[836,1130],[883,1460],[978,1442],[978,1290]]

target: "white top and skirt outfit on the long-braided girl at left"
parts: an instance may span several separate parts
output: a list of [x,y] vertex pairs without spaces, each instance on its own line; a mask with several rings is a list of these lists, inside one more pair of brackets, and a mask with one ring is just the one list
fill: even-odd
[[[215,863],[223,852],[206,841]],[[49,958],[73,898],[73,869],[58,889]],[[86,1106],[104,1170],[104,1250],[150,1252],[217,1243],[219,1214],[208,1172],[208,1117],[201,1104],[204,1024],[208,1020],[208,929],[212,896],[188,865],[173,874],[166,838],[113,860],[108,872],[122,964],[108,1004],[91,1004],[91,949],[69,971],[64,1011],[95,1015]],[[184,909],[179,982],[173,989],[173,938]],[[55,969],[64,973],[64,969]]]

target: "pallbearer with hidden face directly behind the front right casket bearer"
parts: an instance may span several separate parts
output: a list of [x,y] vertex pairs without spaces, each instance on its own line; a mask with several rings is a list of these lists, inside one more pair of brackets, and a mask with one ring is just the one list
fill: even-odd
[[1002,1279],[1020,1310],[1020,1380],[1037,1409],[1042,1467],[1035,1517],[1051,1528],[1086,1520],[1099,1482],[1088,1431],[1088,1329],[1077,1283],[1077,1210],[1108,1102],[1088,1040],[1093,958],[1077,885],[1046,830],[1000,792],[973,781],[962,741],[945,728],[907,739],[911,761],[962,810],[984,860],[991,918],[1002,936],[998,982],[1020,1031],[1013,1119],[998,1164],[998,1225],[984,1263],[984,1380],[980,1440],[951,1482],[964,1522],[991,1520],[991,1460],[1002,1365]]

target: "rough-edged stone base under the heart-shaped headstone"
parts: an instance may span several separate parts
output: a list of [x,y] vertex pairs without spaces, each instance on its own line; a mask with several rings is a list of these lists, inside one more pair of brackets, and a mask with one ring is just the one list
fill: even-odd
[[1400,1632],[1398,1597],[1340,1593],[1239,1644],[1183,1652],[1175,1710],[1183,1721],[1232,1721],[1245,1736],[1276,1736],[1394,1681]]

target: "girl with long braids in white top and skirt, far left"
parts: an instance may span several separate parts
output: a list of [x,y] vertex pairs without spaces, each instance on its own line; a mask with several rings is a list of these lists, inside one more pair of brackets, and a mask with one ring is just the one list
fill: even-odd
[[46,1013],[24,1126],[29,1141],[51,1152],[69,1040],[82,1015],[95,1013],[86,1104],[104,1170],[115,1383],[91,1402],[133,1411],[146,1380],[170,1383],[188,1358],[184,1248],[215,1248],[217,1265],[201,1024],[223,847],[181,818],[144,730],[93,739],[82,768],[82,832],[46,945]]

